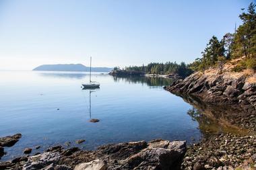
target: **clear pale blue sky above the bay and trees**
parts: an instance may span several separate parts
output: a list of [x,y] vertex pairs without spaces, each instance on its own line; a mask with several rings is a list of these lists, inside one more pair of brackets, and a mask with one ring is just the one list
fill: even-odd
[[[249,0],[0,0],[0,70],[192,62]],[[255,2],[255,0],[253,1]]]

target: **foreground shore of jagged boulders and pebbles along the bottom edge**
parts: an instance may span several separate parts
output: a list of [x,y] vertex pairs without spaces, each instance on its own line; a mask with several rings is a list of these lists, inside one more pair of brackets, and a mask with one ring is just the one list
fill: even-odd
[[107,144],[96,151],[58,145],[28,154],[0,162],[0,169],[256,169],[256,135],[211,133],[191,146],[157,139]]

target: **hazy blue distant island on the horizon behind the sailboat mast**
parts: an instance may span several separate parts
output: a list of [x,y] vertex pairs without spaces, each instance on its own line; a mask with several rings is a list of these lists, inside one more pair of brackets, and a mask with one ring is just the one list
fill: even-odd
[[[92,72],[110,72],[113,68],[92,67]],[[90,67],[82,64],[59,64],[59,65],[40,65],[33,71],[90,71]]]

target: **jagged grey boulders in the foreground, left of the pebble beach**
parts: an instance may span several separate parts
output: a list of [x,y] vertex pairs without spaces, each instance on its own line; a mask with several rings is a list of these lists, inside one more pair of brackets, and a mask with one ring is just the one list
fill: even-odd
[[185,141],[152,140],[100,146],[96,151],[53,146],[44,153],[0,163],[0,169],[180,169]]

